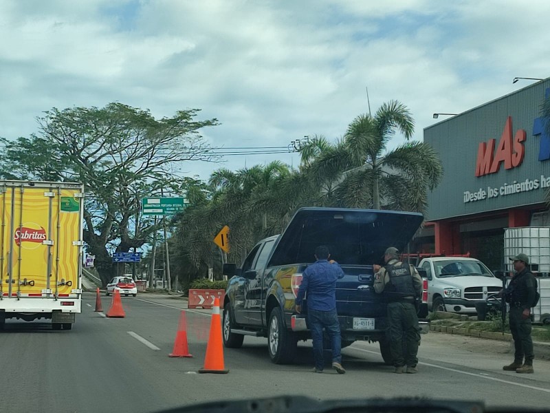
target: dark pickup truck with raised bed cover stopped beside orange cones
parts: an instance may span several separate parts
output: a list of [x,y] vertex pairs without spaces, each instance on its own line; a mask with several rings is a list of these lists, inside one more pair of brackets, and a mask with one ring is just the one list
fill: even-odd
[[[345,273],[336,285],[342,348],[357,340],[378,341],[384,361],[391,363],[386,305],[373,289],[373,264],[382,264],[386,247],[404,248],[422,220],[419,213],[397,211],[298,210],[281,235],[252,248],[241,268],[224,264],[224,275],[231,277],[223,303],[225,347],[241,347],[245,335],[267,337],[272,361],[292,363],[298,341],[311,339],[307,317],[296,314],[294,299],[316,246],[327,245]],[[423,303],[419,316],[426,315]],[[428,321],[422,319],[420,326],[428,332]]]

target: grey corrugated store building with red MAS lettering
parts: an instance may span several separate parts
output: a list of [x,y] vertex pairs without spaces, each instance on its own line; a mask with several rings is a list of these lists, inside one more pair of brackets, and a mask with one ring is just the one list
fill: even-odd
[[504,230],[550,226],[550,136],[541,105],[550,78],[424,129],[439,153],[443,180],[428,194],[423,248],[470,253],[502,268]]

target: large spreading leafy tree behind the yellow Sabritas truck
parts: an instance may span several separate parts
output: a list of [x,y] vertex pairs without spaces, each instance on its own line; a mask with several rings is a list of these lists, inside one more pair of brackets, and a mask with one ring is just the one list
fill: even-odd
[[115,274],[109,244],[127,252],[158,229],[140,217],[141,199],[181,193],[185,182],[175,176],[181,162],[213,159],[199,130],[218,123],[195,120],[198,112],[155,119],[122,103],[53,108],[38,118],[39,136],[3,140],[0,176],[85,184],[84,240],[106,284]]

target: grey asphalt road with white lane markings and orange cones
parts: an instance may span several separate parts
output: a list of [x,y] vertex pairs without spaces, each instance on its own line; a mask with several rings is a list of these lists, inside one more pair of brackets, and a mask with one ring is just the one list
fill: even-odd
[[[300,394],[316,399],[426,396],[483,400],[489,406],[547,407],[550,362],[536,360],[535,374],[504,372],[509,343],[430,332],[419,350],[419,374],[393,374],[376,344],[343,351],[347,374],[328,367],[311,372],[311,346],[300,344],[293,366],[276,366],[266,339],[246,337],[241,349],[225,349],[229,374],[197,374],[203,366],[209,310],[186,311],[190,359],[171,359],[181,299],[122,297],[126,318],[94,313],[86,294],[71,331],[47,323],[8,321],[3,350],[3,412],[155,412],[214,400]],[[102,297],[104,310],[109,299]]]

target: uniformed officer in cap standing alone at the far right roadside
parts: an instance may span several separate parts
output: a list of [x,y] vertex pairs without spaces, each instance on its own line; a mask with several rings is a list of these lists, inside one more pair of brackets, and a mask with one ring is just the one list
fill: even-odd
[[[531,307],[536,297],[536,279],[529,271],[529,257],[518,254],[510,258],[514,262],[516,275],[504,291],[506,302],[510,306],[510,331],[514,338],[516,352],[514,363],[504,366],[504,370],[516,373],[533,372],[533,339],[531,339]],[[523,359],[525,357],[525,364]]]

